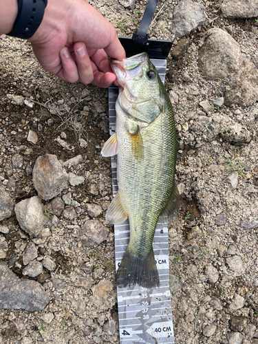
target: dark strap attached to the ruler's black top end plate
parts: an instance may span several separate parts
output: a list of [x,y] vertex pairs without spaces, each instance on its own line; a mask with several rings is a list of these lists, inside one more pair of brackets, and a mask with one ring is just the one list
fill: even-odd
[[149,36],[147,35],[147,32],[149,30],[149,25],[151,23],[151,19],[153,17],[157,4],[158,0],[149,0],[149,2],[147,3],[147,7],[144,11],[138,31],[137,33],[133,33],[133,41],[136,41],[136,43],[144,44],[148,41]]

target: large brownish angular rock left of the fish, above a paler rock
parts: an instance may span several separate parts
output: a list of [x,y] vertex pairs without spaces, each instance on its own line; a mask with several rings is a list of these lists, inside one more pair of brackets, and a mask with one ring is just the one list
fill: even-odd
[[56,155],[47,154],[37,158],[33,169],[33,183],[39,197],[51,200],[67,188],[68,175],[63,171]]

